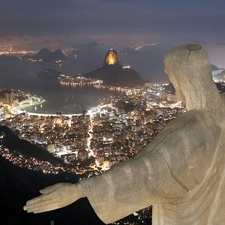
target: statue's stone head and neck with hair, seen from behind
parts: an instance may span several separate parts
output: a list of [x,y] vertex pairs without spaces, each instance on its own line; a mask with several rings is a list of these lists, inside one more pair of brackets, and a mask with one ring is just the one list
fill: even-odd
[[208,55],[201,45],[181,45],[169,51],[164,58],[164,71],[188,110],[205,109],[211,101],[209,95],[218,95]]

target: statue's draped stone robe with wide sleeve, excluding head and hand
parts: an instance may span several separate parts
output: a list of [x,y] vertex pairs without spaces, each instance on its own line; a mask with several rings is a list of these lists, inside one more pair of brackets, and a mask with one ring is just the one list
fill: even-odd
[[153,206],[153,225],[225,223],[224,113],[190,110],[134,159],[81,184],[106,224]]

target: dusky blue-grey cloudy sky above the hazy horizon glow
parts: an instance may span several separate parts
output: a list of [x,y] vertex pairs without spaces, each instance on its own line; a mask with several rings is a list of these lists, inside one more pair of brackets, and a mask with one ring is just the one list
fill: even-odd
[[[225,44],[224,0],[1,0],[2,38]],[[7,40],[7,39],[2,39]]]

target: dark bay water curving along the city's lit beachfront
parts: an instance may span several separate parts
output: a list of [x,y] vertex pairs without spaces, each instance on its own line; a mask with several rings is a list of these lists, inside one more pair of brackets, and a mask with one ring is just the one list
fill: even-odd
[[[55,65],[44,66],[52,68]],[[59,110],[63,113],[81,113],[83,109],[110,102],[110,96],[114,95],[114,92],[106,89],[91,86],[63,87],[58,82],[40,79],[37,73],[43,69],[42,64],[30,62],[0,63],[0,88],[19,89],[43,97],[46,102],[42,106],[27,108],[27,111],[37,113],[56,113]]]

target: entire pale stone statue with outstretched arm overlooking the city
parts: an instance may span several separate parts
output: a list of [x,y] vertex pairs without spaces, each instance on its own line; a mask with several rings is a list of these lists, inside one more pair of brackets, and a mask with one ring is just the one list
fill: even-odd
[[106,224],[149,205],[153,225],[225,224],[225,99],[200,45],[172,49],[164,65],[187,112],[135,158],[77,184],[47,187],[24,210],[50,211],[87,197]]

